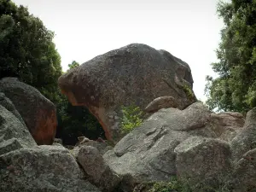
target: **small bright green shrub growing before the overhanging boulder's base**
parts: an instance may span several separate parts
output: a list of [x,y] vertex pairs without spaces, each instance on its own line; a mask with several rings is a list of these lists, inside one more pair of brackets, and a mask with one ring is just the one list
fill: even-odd
[[131,132],[135,127],[142,125],[143,123],[143,111],[135,106],[128,107],[122,106],[121,108],[123,116],[121,119],[121,134],[126,135]]

